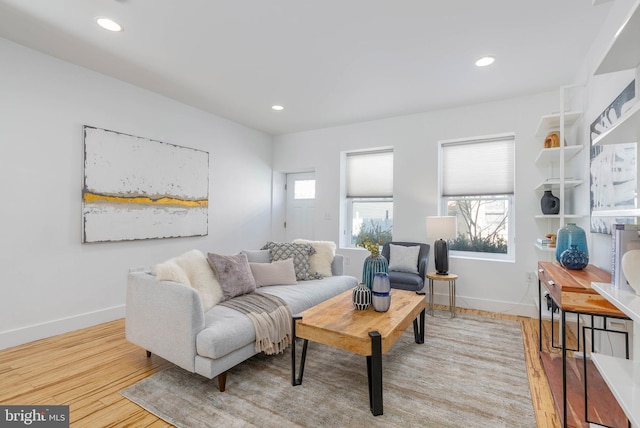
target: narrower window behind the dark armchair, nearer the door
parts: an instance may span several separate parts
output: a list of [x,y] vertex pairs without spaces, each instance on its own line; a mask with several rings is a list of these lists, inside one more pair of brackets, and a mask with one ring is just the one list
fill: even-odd
[[347,246],[385,243],[393,230],[393,151],[347,153]]

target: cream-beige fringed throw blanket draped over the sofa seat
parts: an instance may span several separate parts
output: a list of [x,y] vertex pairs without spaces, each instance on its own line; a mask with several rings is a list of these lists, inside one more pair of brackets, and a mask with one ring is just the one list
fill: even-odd
[[291,308],[279,297],[248,293],[220,303],[247,315],[256,330],[256,352],[279,354],[291,344]]

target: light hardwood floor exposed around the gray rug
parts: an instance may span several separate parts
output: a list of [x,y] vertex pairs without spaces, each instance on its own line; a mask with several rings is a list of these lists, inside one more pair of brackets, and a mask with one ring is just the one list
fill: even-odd
[[[538,426],[559,427],[538,356],[538,320],[459,311],[521,323]],[[125,339],[124,320],[112,321],[0,351],[0,404],[68,404],[74,427],[167,427],[119,391],[169,366]]]

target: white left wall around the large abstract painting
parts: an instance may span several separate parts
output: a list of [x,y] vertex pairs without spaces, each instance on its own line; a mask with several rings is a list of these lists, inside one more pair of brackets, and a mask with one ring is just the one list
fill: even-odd
[[[0,57],[0,349],[122,317],[130,267],[270,237],[270,136],[5,39]],[[81,244],[83,124],[208,151],[209,235]]]

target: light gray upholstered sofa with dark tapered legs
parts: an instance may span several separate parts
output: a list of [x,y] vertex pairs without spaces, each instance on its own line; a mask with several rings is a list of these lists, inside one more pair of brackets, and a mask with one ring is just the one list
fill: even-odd
[[[251,257],[255,256],[249,254],[248,261]],[[331,276],[258,286],[255,292],[280,297],[297,314],[357,285],[356,278],[343,275],[341,255],[333,256],[330,269]],[[207,308],[203,301],[211,304],[212,298],[202,288],[160,280],[156,273],[128,275],[127,339],[144,348],[147,356],[156,354],[209,379],[217,376],[224,391],[227,371],[256,354],[253,322],[235,309],[216,304],[224,300],[219,291],[214,290],[214,304]]]

